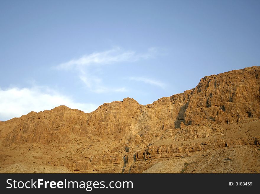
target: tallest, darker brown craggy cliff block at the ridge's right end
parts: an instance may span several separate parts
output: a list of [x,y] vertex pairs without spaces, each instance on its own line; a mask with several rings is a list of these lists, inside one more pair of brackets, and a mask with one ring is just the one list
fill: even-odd
[[229,124],[259,118],[259,83],[259,67],[205,76],[192,91],[185,123],[197,125],[211,119]]

